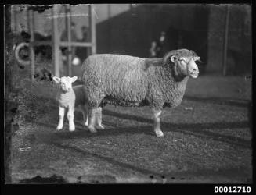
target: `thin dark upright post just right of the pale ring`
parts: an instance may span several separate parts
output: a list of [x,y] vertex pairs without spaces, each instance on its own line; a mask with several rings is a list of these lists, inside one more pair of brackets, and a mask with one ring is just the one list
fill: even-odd
[[31,55],[31,80],[34,81],[34,12],[32,10],[28,10],[27,6],[27,21],[28,21],[28,29],[31,34],[30,39],[30,55]]

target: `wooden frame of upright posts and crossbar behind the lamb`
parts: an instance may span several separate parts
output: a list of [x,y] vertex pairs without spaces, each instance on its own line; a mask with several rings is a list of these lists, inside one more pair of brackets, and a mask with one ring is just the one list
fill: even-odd
[[67,64],[68,64],[68,76],[72,75],[72,56],[71,48],[72,47],[86,47],[91,48],[92,54],[96,53],[96,20],[93,16],[93,5],[89,6],[89,27],[91,30],[91,40],[88,42],[74,42],[71,41],[71,9],[70,5],[65,6],[65,15],[67,22],[67,41],[60,41],[59,37],[59,29],[58,29],[58,7],[59,5],[53,5],[52,7],[52,40],[51,41],[35,41],[34,40],[34,12],[31,10],[27,10],[27,27],[31,34],[30,39],[30,56],[31,56],[31,80],[34,80],[34,69],[35,69],[35,55],[34,55],[34,46],[38,45],[51,45],[52,46],[52,65],[54,67],[54,75],[59,76],[59,48],[67,47]]

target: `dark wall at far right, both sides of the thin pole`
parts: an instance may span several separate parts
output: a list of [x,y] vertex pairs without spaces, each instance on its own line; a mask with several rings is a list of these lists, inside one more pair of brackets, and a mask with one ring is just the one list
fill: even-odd
[[[209,14],[207,73],[223,72],[226,5],[211,6]],[[227,75],[251,73],[251,6],[230,5]]]

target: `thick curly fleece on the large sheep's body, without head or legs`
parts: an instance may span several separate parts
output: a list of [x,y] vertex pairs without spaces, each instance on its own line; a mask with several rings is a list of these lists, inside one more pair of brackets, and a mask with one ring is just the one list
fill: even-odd
[[162,58],[91,55],[82,69],[88,105],[92,108],[104,103],[173,108],[181,103],[188,80],[184,76],[176,81],[171,73],[174,70]]

